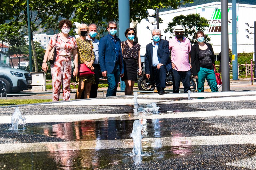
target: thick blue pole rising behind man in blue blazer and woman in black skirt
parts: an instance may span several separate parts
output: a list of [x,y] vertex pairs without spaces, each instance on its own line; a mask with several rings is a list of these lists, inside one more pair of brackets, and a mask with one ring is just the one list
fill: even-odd
[[[127,40],[125,30],[130,27],[130,3],[129,0],[118,0],[118,21],[119,21],[119,38],[121,41]],[[121,90],[125,90],[125,82],[121,81]]]

